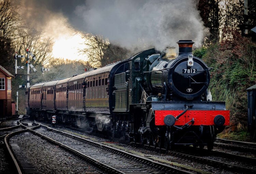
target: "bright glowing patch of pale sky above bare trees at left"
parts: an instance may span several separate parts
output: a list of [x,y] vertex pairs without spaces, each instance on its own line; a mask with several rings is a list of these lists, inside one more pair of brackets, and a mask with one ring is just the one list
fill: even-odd
[[83,39],[79,33],[75,35],[64,34],[54,38],[53,56],[70,60],[87,60],[85,55],[80,55],[78,49],[83,49]]

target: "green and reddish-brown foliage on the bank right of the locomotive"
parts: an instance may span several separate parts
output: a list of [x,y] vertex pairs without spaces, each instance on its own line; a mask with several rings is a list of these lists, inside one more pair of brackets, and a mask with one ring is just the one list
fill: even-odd
[[211,70],[209,89],[213,100],[226,101],[230,110],[230,130],[238,130],[238,123],[247,126],[246,89],[256,83],[256,44],[242,38],[236,31],[221,43],[212,43],[206,49],[195,50]]

